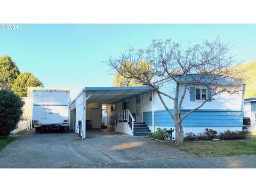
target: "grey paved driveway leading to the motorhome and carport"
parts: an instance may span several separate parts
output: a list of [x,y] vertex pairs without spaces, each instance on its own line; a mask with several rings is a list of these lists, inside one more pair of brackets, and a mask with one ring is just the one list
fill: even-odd
[[2,168],[214,168],[256,167],[256,156],[198,158],[144,137],[108,130],[36,133],[18,138],[0,151]]

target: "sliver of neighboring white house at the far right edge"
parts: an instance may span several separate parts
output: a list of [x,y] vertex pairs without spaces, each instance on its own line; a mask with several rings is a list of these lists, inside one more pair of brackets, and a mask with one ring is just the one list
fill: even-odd
[[251,119],[249,131],[256,131],[256,98],[244,99],[244,117],[250,117]]

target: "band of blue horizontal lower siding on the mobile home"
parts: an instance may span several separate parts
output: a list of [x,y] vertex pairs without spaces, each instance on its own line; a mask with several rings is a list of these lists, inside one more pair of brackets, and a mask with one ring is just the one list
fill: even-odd
[[[173,114],[173,110],[171,111]],[[188,113],[188,110],[181,111]],[[174,126],[171,116],[166,110],[158,110],[154,113],[155,126]],[[182,115],[183,116],[183,115]],[[147,125],[152,125],[151,111],[143,113],[143,119]],[[242,127],[242,111],[231,110],[198,110],[187,116],[183,121],[184,127]]]

